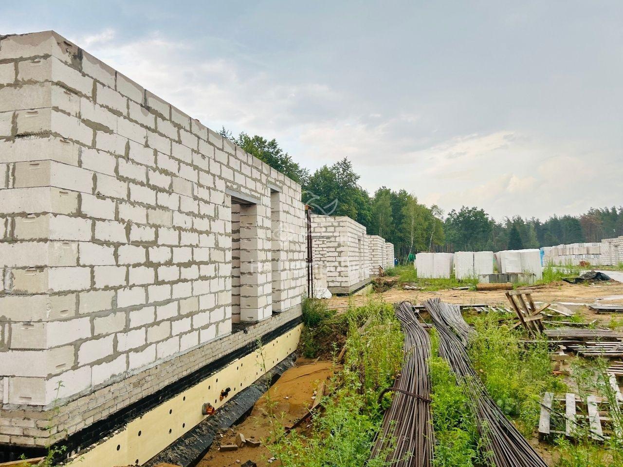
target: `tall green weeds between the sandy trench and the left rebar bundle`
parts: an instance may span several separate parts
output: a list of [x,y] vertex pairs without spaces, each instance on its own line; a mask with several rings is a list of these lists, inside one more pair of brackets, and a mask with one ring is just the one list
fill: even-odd
[[[347,326],[345,364],[330,384],[331,394],[321,401],[323,412],[313,417],[307,435],[285,435],[282,425],[274,420],[267,445],[282,466],[388,465],[384,456],[373,460],[369,456],[383,421],[383,409],[389,405],[389,396],[379,405],[379,394],[392,385],[401,368],[400,324],[391,304],[370,301],[366,306],[321,320],[317,328],[331,326],[338,318]],[[359,334],[362,320],[368,325]]]

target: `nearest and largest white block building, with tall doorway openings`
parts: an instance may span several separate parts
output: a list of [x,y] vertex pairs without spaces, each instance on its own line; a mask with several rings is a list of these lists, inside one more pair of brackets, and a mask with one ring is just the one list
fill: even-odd
[[301,187],[54,32],[0,37],[0,175],[0,451],[84,448],[300,322]]

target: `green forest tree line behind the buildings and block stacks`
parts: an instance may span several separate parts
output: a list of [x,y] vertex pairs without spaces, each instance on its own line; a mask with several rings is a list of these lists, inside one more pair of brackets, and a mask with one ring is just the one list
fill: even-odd
[[405,260],[422,251],[478,251],[539,248],[561,243],[599,242],[623,235],[623,207],[591,208],[573,216],[553,215],[545,222],[532,217],[506,217],[496,221],[485,210],[463,206],[447,215],[437,205],[426,206],[414,193],[380,187],[373,195],[359,186],[359,175],[344,158],[313,173],[293,161],[275,139],[222,136],[297,181],[302,201],[316,214],[346,215],[394,244],[397,257]]

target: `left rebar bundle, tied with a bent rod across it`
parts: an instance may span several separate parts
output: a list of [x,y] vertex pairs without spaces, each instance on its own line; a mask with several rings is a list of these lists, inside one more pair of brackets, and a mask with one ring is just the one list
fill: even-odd
[[388,465],[396,467],[430,467],[435,443],[430,415],[430,340],[411,303],[395,304],[394,309],[404,333],[404,358],[401,374],[389,388],[394,397],[372,457],[384,456]]

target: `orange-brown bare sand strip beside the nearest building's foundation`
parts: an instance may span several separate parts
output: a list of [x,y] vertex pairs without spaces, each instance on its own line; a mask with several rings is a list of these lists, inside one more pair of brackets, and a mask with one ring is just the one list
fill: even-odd
[[[278,461],[269,463],[271,455],[264,445],[264,440],[270,435],[270,419],[267,415],[270,405],[274,405],[273,413],[278,414],[278,420],[283,425],[292,425],[308,412],[313,403],[314,391],[321,382],[333,375],[333,370],[333,362],[298,359],[295,366],[286,370],[255,403],[249,417],[239,425],[222,432],[222,438],[217,436],[198,466],[239,466],[248,460],[254,461],[258,466],[278,466]],[[304,424],[301,429],[305,430]],[[261,441],[262,445],[257,448],[242,446],[235,451],[219,451],[219,445],[235,444],[238,433],[242,433],[247,439]]]

